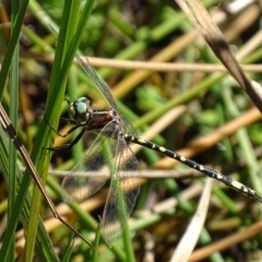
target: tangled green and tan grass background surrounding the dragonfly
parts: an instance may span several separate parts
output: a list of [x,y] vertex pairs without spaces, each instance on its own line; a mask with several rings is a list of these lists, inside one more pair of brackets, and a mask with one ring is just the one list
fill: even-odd
[[[259,4],[235,11],[229,1],[202,2],[234,52],[238,55],[246,50],[241,60],[258,64],[262,56]],[[45,111],[49,122],[57,126],[61,115],[69,116],[67,104],[62,103],[64,96],[70,99],[88,96],[94,107],[106,106],[83,71],[79,67],[71,68],[78,47],[84,56],[111,59],[108,67],[104,67],[108,61],[90,60],[99,63],[98,74],[111,86],[121,112],[132,121],[139,134],[147,131],[154,142],[179,150],[262,195],[260,116],[253,117],[252,103],[238,84],[219,68],[213,67],[218,59],[175,2],[96,1],[91,16],[92,2],[87,5],[80,1],[72,4],[67,1],[45,1],[41,4],[31,1],[27,5],[22,1],[20,7],[0,8],[2,104],[11,115],[14,112],[12,122],[15,126],[17,121],[17,132],[39,175],[47,180],[47,190],[59,214],[90,241],[94,242],[95,236],[99,236],[95,234],[97,224],[94,219],[98,221],[102,215],[106,191],[86,200],[81,207],[75,204],[70,209],[61,201],[61,176],[46,175],[48,168],[70,170],[81,160],[94,136],[86,133],[72,152],[55,154],[51,160],[49,153],[41,152],[43,146],[52,145],[55,140],[55,134],[43,121],[43,114]],[[14,20],[16,14],[20,19]],[[9,23],[11,17],[15,23]],[[52,28],[60,28],[61,34],[57,36]],[[16,40],[20,51],[14,49]],[[53,59],[51,55],[55,52]],[[134,62],[124,68],[122,62],[117,63],[117,59],[170,62],[179,67],[168,71],[163,64],[159,68],[153,66],[154,70],[146,71],[134,69]],[[8,75],[11,61],[13,66]],[[202,69],[201,64],[205,68]],[[260,72],[261,68],[254,67],[248,75],[260,83]],[[237,124],[240,120],[243,128]],[[230,128],[233,121],[235,124]],[[59,128],[64,132],[69,127],[61,124]],[[33,257],[38,261],[62,258],[63,261],[144,261],[145,258],[168,261],[184,235],[205,183],[205,178],[199,178],[200,174],[194,170],[180,164],[175,167],[175,160],[141,150],[138,159],[146,182],[129,225],[133,239],[120,239],[109,249],[97,238],[97,243],[93,243],[95,252],[92,252],[78,239],[71,246],[71,233],[51,216],[46,202],[40,202],[38,190],[28,189],[29,180],[24,180],[29,174],[23,176],[19,171],[20,157],[16,159],[15,151],[7,145],[8,141],[1,133],[4,179],[1,179],[0,228],[3,228],[1,240],[8,242],[8,248],[2,248],[0,254],[7,261],[13,261],[14,255],[17,261],[32,261]],[[199,141],[198,145],[190,146],[192,141]],[[56,139],[55,143],[67,142]],[[152,168],[156,169],[155,172]],[[14,174],[16,179],[12,181]],[[16,217],[21,222],[17,227],[12,219],[7,224],[7,217],[12,217],[12,211],[16,209],[17,199],[21,200],[15,198],[15,192],[27,193],[22,213]],[[37,227],[38,214],[46,229],[41,222]],[[260,216],[259,203],[214,182],[207,217],[192,255],[212,261],[261,259]],[[16,228],[16,233],[5,240],[4,233],[9,227]],[[26,245],[23,228],[27,231]],[[212,251],[204,249],[205,246]]]

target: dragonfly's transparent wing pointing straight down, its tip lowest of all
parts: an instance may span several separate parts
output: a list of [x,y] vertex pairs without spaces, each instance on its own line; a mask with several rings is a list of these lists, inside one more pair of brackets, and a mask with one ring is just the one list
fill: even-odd
[[124,140],[115,143],[115,166],[102,227],[109,247],[122,235],[140,192],[140,166]]

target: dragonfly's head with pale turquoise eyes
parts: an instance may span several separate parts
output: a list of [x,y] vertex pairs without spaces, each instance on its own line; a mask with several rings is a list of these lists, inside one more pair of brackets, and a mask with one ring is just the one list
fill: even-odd
[[[69,102],[68,102],[69,103]],[[70,114],[78,122],[85,122],[90,117],[90,100],[86,97],[80,97],[78,100],[69,103]]]

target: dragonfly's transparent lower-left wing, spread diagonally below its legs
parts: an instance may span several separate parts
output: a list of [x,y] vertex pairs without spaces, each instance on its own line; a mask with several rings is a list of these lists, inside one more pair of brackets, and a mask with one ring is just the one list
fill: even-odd
[[[110,177],[105,146],[111,152],[112,143],[103,143],[105,135],[112,133],[108,123],[97,135],[83,162],[79,163],[62,181],[62,198],[67,203],[81,202],[96,193]],[[102,143],[104,146],[102,146]],[[116,142],[115,142],[116,143]],[[114,155],[112,155],[114,156]]]

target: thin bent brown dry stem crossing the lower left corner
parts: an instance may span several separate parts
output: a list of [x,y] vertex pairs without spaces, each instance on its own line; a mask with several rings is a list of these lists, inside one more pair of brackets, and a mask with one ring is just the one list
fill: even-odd
[[48,193],[45,189],[45,186],[44,186],[43,181],[40,180],[40,177],[34,166],[29,155],[27,154],[27,151],[25,150],[20,136],[15,132],[15,129],[14,129],[12,122],[10,121],[10,119],[1,104],[0,104],[0,124],[1,124],[2,129],[4,130],[4,132],[8,134],[8,136],[10,138],[10,140],[12,141],[12,143],[14,144],[14,146],[17,150],[17,152],[20,153],[21,157],[23,158],[27,170],[32,175],[37,187],[39,188],[43,196],[45,198],[48,206],[50,207],[50,210],[52,212],[53,217],[57,218],[58,221],[60,221],[64,226],[67,226],[71,231],[73,231],[82,240],[84,240],[90,247],[93,248],[93,246],[78,230],[75,230],[70,224],[68,224],[57,212],[56,205],[53,204],[52,200],[48,195]]

